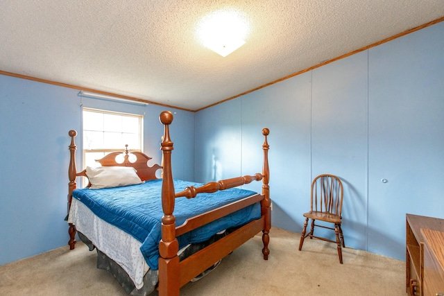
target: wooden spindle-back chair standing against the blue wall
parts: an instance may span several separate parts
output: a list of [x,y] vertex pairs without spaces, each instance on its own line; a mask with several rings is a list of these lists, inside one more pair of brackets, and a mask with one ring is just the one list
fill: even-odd
[[[300,237],[299,250],[302,250],[304,239],[318,238],[323,241],[330,241],[336,243],[338,247],[339,262],[342,264],[342,248],[345,247],[344,238],[341,229],[341,213],[342,213],[342,199],[343,186],[339,177],[334,175],[318,175],[311,183],[311,207],[308,213],[304,214],[305,223]],[[311,219],[311,229],[308,234],[307,231],[308,220]],[[333,223],[334,227],[327,227],[324,225],[315,224],[316,220],[321,220],[327,223]],[[329,238],[314,236],[314,227],[323,227],[334,230],[336,234],[336,241]]]

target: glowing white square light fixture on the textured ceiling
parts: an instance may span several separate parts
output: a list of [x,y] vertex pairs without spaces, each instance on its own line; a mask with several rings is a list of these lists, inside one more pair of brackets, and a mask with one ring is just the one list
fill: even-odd
[[200,42],[224,58],[245,44],[248,21],[234,10],[219,10],[207,15],[198,25]]

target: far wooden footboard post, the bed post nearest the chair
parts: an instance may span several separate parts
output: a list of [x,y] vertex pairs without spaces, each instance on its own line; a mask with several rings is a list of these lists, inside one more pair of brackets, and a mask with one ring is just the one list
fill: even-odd
[[264,230],[262,230],[262,243],[264,243],[264,248],[262,249],[262,254],[264,254],[264,260],[268,260],[268,243],[270,242],[270,228],[271,228],[271,200],[270,200],[270,186],[268,186],[268,179],[270,177],[270,168],[268,168],[268,142],[266,137],[270,134],[268,128],[262,130],[264,135],[264,144],[262,149],[264,150],[264,165],[262,167],[262,195],[264,195],[264,200],[261,202],[262,216],[265,217]]

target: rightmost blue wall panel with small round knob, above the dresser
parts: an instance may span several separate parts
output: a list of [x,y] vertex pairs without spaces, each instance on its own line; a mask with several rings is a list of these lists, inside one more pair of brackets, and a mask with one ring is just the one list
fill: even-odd
[[368,250],[405,258],[405,214],[443,217],[444,22],[368,51]]

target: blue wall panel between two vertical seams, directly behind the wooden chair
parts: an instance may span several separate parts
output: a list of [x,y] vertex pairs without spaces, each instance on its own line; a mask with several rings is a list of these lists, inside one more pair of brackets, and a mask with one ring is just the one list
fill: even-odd
[[366,69],[366,51],[314,69],[311,102],[311,178],[341,178],[345,244],[361,250],[368,199]]

